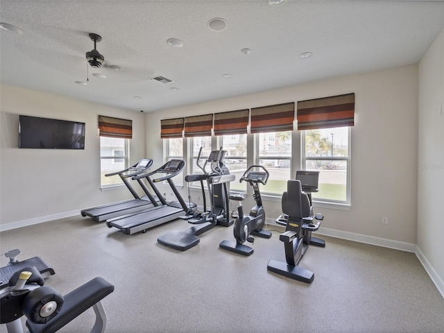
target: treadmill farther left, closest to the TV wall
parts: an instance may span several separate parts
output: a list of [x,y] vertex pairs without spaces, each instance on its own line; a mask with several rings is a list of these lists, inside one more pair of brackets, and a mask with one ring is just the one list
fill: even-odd
[[139,185],[142,187],[145,193],[142,198],[137,194],[129,181],[131,178],[144,173],[151,167],[151,165],[153,165],[153,160],[151,160],[151,158],[144,158],[134,164],[133,167],[129,167],[128,169],[122,171],[106,174],[106,177],[119,175],[119,177],[123,181],[123,184],[125,184],[126,187],[130,190],[131,194],[133,194],[134,199],[121,201],[119,203],[110,203],[107,205],[87,208],[80,212],[82,216],[89,216],[93,219],[93,221],[101,222],[116,216],[130,214],[132,212],[137,212],[139,210],[144,210],[148,207],[153,207],[154,205],[157,205],[157,199],[153,196],[153,194],[151,194],[142,179],[137,179],[137,182],[139,182]]

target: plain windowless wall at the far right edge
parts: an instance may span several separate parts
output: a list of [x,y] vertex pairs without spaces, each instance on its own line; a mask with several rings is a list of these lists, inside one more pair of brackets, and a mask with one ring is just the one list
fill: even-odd
[[418,120],[418,247],[444,296],[443,236],[444,30],[420,61]]

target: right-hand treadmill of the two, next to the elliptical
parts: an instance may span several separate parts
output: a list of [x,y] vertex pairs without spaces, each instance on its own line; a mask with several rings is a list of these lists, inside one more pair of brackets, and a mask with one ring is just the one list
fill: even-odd
[[[172,180],[174,176],[177,176],[182,172],[184,167],[184,160],[171,160],[155,171],[133,177],[135,180],[146,178],[149,185],[160,199],[160,205],[155,205],[155,207],[142,210],[135,214],[128,214],[125,216],[108,219],[108,221],[106,221],[108,228],[118,228],[123,232],[123,234],[135,234],[136,232],[141,231],[146,232],[146,230],[149,228],[178,219],[179,216],[185,214],[189,209],[194,209],[196,204],[189,203],[187,206],[185,200],[183,200],[180,192]],[[159,173],[164,174],[164,176],[153,178],[153,176]],[[159,189],[157,189],[155,183],[163,182],[164,180],[167,180],[178,200],[167,201],[162,196]]]

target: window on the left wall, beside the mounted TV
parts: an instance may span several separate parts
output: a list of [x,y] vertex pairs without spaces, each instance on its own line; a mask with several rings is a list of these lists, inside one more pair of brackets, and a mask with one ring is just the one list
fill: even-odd
[[128,168],[128,139],[100,137],[101,187],[123,184],[119,176],[105,177],[105,174],[126,168]]

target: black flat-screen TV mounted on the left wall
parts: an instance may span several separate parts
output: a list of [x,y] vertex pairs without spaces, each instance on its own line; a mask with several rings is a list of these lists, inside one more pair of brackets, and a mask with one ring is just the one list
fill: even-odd
[[85,123],[19,115],[19,148],[85,149]]

